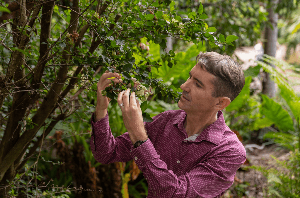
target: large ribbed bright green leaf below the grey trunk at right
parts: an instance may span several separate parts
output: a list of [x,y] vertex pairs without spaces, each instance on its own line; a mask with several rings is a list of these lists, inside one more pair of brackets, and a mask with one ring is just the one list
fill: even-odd
[[266,95],[262,95],[262,114],[273,121],[281,130],[295,131],[293,127],[293,120],[289,116],[286,110],[284,110],[280,104]]

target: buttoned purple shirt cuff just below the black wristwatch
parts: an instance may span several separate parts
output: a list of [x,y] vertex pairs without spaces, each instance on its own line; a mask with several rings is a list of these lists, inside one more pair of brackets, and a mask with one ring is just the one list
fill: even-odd
[[146,142],[134,148],[131,147],[130,155],[134,159],[139,169],[143,172],[143,167],[152,159],[160,158],[161,156],[157,154],[152,142],[148,138]]

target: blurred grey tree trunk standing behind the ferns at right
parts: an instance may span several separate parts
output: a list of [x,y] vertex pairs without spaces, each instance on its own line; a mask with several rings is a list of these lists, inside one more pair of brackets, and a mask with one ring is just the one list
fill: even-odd
[[[270,1],[267,11],[269,13],[269,21],[273,27],[267,26],[265,31],[265,54],[275,57],[276,54],[276,42],[278,36],[277,21],[278,13],[275,13],[278,0]],[[271,64],[272,67],[275,67]],[[276,85],[270,79],[270,74],[265,73],[265,79],[262,82],[262,93],[268,95],[270,98],[274,97],[276,94]]]

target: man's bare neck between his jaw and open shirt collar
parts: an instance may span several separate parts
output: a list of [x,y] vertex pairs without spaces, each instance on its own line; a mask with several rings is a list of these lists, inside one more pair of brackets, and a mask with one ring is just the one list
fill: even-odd
[[194,134],[200,134],[204,131],[209,125],[216,122],[217,113],[213,112],[210,115],[195,116],[187,113],[187,116],[184,121],[184,129],[187,132],[187,136],[190,137]]

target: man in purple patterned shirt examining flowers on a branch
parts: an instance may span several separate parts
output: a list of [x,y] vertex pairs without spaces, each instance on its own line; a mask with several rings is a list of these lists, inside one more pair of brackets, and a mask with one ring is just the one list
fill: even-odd
[[108,123],[109,101],[99,94],[114,74],[104,73],[97,84],[96,115],[91,121],[93,155],[102,164],[134,159],[149,184],[148,198],[220,197],[246,160],[243,145],[226,126],[221,111],[244,87],[243,70],[229,56],[215,52],[200,52],[196,60],[180,86],[180,110],[160,113],[153,122],[143,122],[134,92],[130,97],[129,89],[119,93],[128,132],[116,138]]

